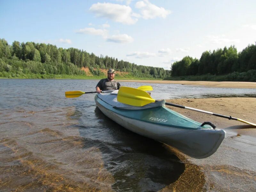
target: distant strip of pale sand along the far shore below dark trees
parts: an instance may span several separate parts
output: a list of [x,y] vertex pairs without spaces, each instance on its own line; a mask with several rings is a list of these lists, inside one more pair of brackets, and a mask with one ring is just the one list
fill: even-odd
[[140,83],[162,83],[162,84],[184,84],[221,88],[247,88],[256,89],[256,82],[215,82],[215,81],[167,81],[167,80],[118,80],[119,82],[140,82]]

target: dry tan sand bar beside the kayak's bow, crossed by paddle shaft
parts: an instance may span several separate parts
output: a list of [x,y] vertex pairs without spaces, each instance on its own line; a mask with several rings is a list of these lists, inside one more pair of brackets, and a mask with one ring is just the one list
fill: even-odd
[[[213,113],[240,118],[256,124],[256,98],[232,97],[232,98],[207,98],[207,99],[175,99],[166,100],[186,107],[210,111]],[[236,120],[212,116],[192,110],[167,106],[180,114],[198,122],[210,121],[218,128],[236,132],[237,134],[256,137],[256,127]]]

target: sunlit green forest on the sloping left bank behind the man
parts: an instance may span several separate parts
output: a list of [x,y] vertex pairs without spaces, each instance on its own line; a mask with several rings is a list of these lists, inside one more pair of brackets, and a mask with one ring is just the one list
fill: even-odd
[[171,70],[136,65],[107,55],[96,56],[76,48],[63,49],[52,44],[18,41],[9,45],[5,39],[0,39],[0,76],[29,73],[85,75],[82,67],[88,67],[96,76],[103,75],[99,68],[114,68],[139,78],[163,79],[171,76]]

